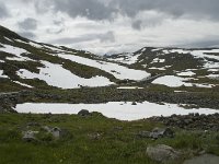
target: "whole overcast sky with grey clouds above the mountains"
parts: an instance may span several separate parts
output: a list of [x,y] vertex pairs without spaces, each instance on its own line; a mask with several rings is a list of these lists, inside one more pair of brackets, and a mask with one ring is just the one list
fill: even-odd
[[0,0],[0,24],[95,54],[219,46],[219,0]]

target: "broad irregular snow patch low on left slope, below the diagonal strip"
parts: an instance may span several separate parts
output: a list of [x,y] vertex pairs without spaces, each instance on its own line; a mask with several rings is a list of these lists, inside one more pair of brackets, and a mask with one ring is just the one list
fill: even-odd
[[79,85],[83,86],[106,86],[113,84],[107,78],[93,77],[91,79],[80,78],[69,70],[66,70],[61,65],[50,63],[48,61],[41,61],[45,65],[44,68],[38,68],[39,73],[33,73],[21,69],[16,73],[22,79],[39,79],[44,80],[48,85],[61,89],[77,89]]

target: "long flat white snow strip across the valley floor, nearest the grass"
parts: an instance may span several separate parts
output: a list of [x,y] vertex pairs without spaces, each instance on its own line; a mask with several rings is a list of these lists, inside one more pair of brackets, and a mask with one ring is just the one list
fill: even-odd
[[108,102],[106,104],[57,104],[57,103],[25,103],[18,104],[14,108],[19,113],[33,114],[78,114],[81,109],[89,112],[99,112],[110,118],[117,118],[120,120],[137,120],[153,116],[171,116],[188,115],[191,113],[199,114],[215,114],[219,113],[216,109],[199,108],[199,109],[184,109],[177,104],[164,105],[142,102],[137,105],[131,105],[132,102]]

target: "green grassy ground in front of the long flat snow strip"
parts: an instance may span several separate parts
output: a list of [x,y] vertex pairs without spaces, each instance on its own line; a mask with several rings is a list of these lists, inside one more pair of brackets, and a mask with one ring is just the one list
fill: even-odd
[[[39,133],[38,141],[25,142],[22,131],[41,130],[42,126],[59,127],[65,134],[56,140]],[[173,129],[174,138],[151,140],[138,133],[163,127],[147,119],[119,121],[94,113],[77,115],[0,115],[0,164],[154,164],[147,156],[149,144],[168,144],[191,154],[205,150],[219,155],[219,133]],[[177,162],[180,163],[180,162]]]

